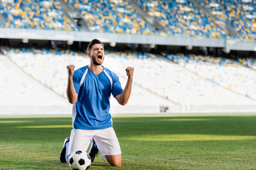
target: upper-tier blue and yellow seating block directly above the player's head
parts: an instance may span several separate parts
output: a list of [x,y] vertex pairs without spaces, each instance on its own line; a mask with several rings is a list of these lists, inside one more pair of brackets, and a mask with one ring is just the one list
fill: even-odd
[[64,0],[70,8],[79,10],[90,22],[91,31],[166,35],[153,30],[134,10],[128,0]]

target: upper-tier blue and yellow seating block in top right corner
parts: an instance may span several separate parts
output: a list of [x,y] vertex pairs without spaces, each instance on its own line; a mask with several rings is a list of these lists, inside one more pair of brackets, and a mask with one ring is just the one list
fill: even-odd
[[255,0],[198,0],[220,20],[232,26],[246,41],[256,41]]

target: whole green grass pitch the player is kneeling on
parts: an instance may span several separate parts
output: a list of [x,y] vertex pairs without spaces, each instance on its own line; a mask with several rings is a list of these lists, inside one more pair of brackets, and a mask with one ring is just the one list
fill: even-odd
[[[69,170],[59,161],[71,116],[0,116],[0,170]],[[256,170],[256,114],[114,115],[122,167],[89,170]]]

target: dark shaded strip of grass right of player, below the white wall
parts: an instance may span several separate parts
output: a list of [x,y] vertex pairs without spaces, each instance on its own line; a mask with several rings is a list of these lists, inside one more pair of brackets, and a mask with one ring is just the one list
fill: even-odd
[[205,134],[256,136],[256,116],[177,116],[113,119],[118,136]]

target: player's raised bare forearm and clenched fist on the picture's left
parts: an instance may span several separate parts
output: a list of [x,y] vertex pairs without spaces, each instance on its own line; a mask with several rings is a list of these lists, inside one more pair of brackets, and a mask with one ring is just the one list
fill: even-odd
[[77,101],[78,94],[73,83],[73,74],[74,74],[75,65],[67,65],[67,99],[71,104],[75,104]]

